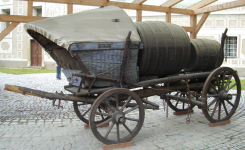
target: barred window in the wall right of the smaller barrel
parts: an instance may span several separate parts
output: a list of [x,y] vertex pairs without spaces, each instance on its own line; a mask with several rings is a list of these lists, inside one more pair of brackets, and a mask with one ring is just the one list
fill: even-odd
[[225,41],[224,53],[227,57],[236,57],[237,52],[237,37],[228,36]]

